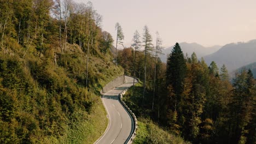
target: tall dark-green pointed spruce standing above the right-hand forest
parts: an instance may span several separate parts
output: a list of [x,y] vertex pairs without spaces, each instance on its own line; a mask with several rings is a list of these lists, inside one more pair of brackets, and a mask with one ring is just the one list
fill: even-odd
[[[171,112],[175,117],[175,121],[171,121],[171,127],[176,127],[174,131],[179,131],[177,128],[179,125],[183,125],[184,118],[182,112],[182,97],[184,95],[189,95],[190,90],[185,91],[184,94],[184,83],[185,77],[187,74],[187,64],[183,56],[183,52],[178,43],[173,47],[172,53],[167,58],[167,67],[166,67],[166,85],[167,88],[172,87],[173,97],[172,103],[167,103],[167,111]],[[190,85],[189,85],[190,86]],[[190,87],[188,88],[190,89]],[[167,92],[167,95],[170,93]],[[175,114],[175,115],[174,115]],[[171,116],[173,118],[173,116]],[[175,126],[176,125],[176,126]]]

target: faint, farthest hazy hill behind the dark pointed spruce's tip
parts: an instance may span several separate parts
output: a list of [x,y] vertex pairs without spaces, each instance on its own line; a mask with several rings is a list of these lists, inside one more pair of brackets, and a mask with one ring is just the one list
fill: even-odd
[[[179,45],[181,46],[184,55],[188,53],[188,55],[191,56],[192,53],[195,52],[197,55],[197,58],[210,55],[211,53],[219,50],[221,47],[219,45],[212,46],[212,47],[204,47],[197,43],[185,43],[185,42],[179,43]],[[173,46],[170,46],[162,51],[164,53],[164,55],[160,56],[162,62],[166,62],[167,56],[171,53],[172,49],[173,49]]]

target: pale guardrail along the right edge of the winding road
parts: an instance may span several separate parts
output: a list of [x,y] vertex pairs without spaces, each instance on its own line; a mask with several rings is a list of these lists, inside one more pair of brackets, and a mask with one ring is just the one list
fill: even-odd
[[[138,82],[138,79],[136,77],[133,77],[133,76],[130,76],[134,79],[137,80]],[[135,83],[137,83],[135,82]],[[124,103],[124,101],[122,100],[123,99],[123,95],[128,91],[128,88],[125,89],[123,92],[121,92],[119,95],[118,95],[118,98],[119,98],[119,101],[121,102],[121,104],[125,107],[125,109],[127,110],[127,112],[130,113],[131,115],[131,118],[132,118],[132,121],[133,121],[133,125],[135,125],[135,127],[133,127],[132,129],[132,133],[130,134],[130,136],[128,137],[128,141],[126,141],[126,143],[132,143],[132,141],[135,139],[136,137],[136,130],[137,130],[137,118],[135,116],[135,114],[130,110],[130,108]]]

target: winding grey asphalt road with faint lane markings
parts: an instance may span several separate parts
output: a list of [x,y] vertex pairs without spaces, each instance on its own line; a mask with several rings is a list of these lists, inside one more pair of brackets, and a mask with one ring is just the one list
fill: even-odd
[[[103,105],[108,113],[108,127],[95,144],[126,143],[135,127],[132,116],[118,100],[118,95],[133,85],[133,78],[125,76],[126,83],[111,89],[102,96]],[[137,80],[135,80],[137,82]]]

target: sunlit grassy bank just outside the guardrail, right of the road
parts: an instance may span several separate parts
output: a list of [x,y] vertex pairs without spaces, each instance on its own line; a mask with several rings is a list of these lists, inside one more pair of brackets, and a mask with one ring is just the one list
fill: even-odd
[[[134,95],[132,89],[134,88]],[[135,113],[138,120],[138,129],[133,143],[190,143],[182,137],[170,133],[167,128],[161,128],[150,119],[150,110],[141,106],[143,83],[139,82],[131,87],[124,95],[123,100]],[[147,99],[147,97],[145,97]],[[147,101],[147,100],[146,100]]]

